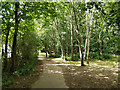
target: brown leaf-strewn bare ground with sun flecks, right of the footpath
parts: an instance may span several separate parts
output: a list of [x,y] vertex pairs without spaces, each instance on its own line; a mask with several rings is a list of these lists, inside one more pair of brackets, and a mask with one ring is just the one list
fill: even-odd
[[72,82],[69,82],[69,85],[74,87],[79,85],[98,88],[104,87],[104,85],[105,87],[117,85],[117,74],[108,70],[104,67],[76,67],[74,65],[63,67],[63,75],[66,79],[70,78],[69,80]]

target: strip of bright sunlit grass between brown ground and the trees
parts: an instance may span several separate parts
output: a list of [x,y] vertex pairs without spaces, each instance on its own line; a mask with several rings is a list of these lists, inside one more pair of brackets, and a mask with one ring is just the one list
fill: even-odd
[[[99,59],[90,59],[89,60],[89,67],[103,67],[103,68],[115,68],[118,67],[118,57],[119,55],[111,55],[110,59],[104,59],[104,60],[99,60]],[[62,58],[54,58],[52,60],[55,61],[61,61],[66,64],[74,64],[78,65],[81,64],[81,61],[63,61]],[[84,61],[85,65],[87,65],[86,61]]]

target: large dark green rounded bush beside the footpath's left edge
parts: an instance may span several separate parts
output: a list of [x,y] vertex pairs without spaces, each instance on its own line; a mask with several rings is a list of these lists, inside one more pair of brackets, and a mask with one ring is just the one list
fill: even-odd
[[21,62],[19,66],[17,66],[14,75],[24,75],[34,70],[35,65],[37,64],[37,56],[38,56],[38,38],[36,38],[36,34],[33,32],[27,32],[24,34],[22,39],[19,40],[18,43]]

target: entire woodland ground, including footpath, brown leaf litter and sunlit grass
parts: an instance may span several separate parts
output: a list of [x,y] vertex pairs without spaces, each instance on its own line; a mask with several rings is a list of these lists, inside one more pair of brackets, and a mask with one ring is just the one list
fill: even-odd
[[86,66],[80,66],[80,61],[63,61],[61,58],[40,57],[38,60],[36,72],[14,79],[15,88],[118,87],[117,60],[93,60]]

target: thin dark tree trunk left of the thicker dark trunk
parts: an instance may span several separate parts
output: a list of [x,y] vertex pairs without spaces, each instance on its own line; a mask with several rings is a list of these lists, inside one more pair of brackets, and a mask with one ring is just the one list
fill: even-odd
[[10,31],[10,24],[8,24],[8,26],[7,26],[6,41],[5,41],[5,59],[4,59],[4,68],[3,68],[3,70],[5,70],[5,68],[7,67],[7,46],[8,46],[9,31]]

